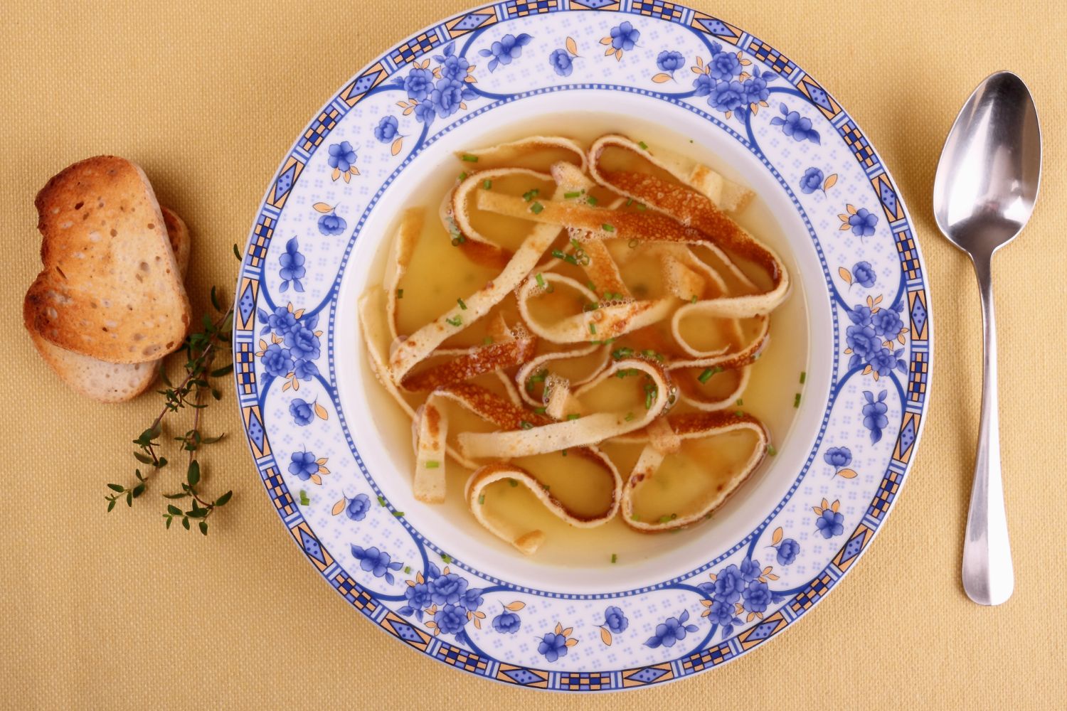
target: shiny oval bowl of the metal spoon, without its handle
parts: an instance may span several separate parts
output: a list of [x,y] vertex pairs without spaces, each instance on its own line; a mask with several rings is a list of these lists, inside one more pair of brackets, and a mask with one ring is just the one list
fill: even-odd
[[1041,131],[1026,84],[1010,71],[983,81],[945,140],[934,216],[949,241],[991,255],[1030,220],[1041,179]]

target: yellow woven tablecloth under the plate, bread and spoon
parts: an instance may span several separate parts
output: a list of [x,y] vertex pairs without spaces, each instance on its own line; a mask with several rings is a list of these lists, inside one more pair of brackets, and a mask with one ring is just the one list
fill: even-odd
[[[264,187],[320,103],[385,46],[464,9],[408,2],[6,0],[0,11],[0,707],[1055,708],[1065,701],[1067,155],[1062,2],[691,4],[782,49],[863,127],[918,223],[936,319],[918,462],[878,540],[782,639],[735,663],[623,697],[529,692],[459,674],[379,631],[318,579],[265,498],[240,436],[205,456],[235,490],[207,538],[165,531],[158,500],[105,514],[158,398],[73,397],[33,351],[21,298],[38,270],[33,196],[66,164],[114,152],[189,222],[189,281],[228,290]],[[950,7],[950,4],[953,5]],[[980,392],[980,314],[930,187],[960,103],[1021,72],[1045,129],[1031,226],[997,260],[1001,416],[1016,593],[983,609],[959,583]],[[209,432],[240,430],[234,399]],[[172,476],[176,475],[174,473]]]

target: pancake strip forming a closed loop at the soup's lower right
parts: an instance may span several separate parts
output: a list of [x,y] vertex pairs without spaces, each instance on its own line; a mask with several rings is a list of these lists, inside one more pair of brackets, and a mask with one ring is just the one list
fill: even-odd
[[[657,442],[653,439],[651,432],[646,431],[643,434],[649,443],[641,451],[641,455],[638,457],[637,464],[634,465],[634,470],[623,487],[621,507],[622,520],[626,526],[642,533],[659,533],[683,529],[707,517],[721,506],[730,495],[736,491],[737,487],[760,466],[760,463],[763,462],[763,457],[766,455],[767,443],[770,441],[763,423],[750,415],[690,413],[662,418],[660,421],[669,425],[679,440],[702,439],[704,437],[714,437],[730,432],[747,430],[755,433],[757,442],[748,459],[745,460],[736,472],[733,472],[729,481],[716,486],[714,490],[706,491],[700,501],[695,502],[695,511],[667,521],[644,521],[634,519],[634,500],[640,496],[641,489],[655,478],[656,471],[665,458],[662,445],[660,448],[657,448]],[[662,441],[662,434],[656,435],[656,437]]]

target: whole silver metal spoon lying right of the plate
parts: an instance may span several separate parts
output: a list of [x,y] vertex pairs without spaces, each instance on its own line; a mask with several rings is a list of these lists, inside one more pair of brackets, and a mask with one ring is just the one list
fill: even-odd
[[1001,482],[992,256],[1030,220],[1040,177],[1041,130],[1030,91],[1009,71],[991,75],[956,117],[934,179],[937,225],[971,256],[982,292],[982,423],[964,542],[964,589],[978,604],[1000,604],[1015,587]]

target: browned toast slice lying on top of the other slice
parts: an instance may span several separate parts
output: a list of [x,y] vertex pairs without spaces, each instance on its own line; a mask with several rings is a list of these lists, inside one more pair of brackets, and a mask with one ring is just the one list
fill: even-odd
[[37,194],[44,270],[27,327],[68,351],[146,362],[181,344],[189,297],[144,172],[114,156],[75,163]]

